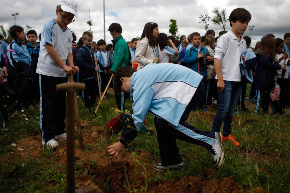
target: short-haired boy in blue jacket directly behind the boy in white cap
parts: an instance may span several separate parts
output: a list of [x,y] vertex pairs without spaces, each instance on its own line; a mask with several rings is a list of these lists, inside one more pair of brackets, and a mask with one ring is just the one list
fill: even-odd
[[35,30],[29,30],[27,32],[27,38],[29,43],[26,45],[29,55],[35,66],[37,66],[40,44],[37,43],[37,33]]

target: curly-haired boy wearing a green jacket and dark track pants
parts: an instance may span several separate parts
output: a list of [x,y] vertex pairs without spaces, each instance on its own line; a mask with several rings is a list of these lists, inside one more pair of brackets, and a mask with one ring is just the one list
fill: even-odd
[[[113,37],[113,54],[112,54],[112,76],[114,76],[115,72],[119,67],[123,66],[132,66],[129,59],[129,48],[124,40],[122,34],[122,27],[119,23],[112,23],[109,26],[108,31]],[[123,111],[126,105],[126,99],[124,97],[124,93],[115,91],[115,98],[117,103],[117,108]]]

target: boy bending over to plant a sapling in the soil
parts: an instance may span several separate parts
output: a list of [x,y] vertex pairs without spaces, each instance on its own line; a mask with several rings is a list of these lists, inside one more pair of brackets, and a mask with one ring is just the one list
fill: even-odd
[[139,71],[120,67],[115,78],[115,88],[130,93],[133,114],[121,139],[108,146],[110,155],[117,156],[137,137],[150,111],[156,115],[154,124],[161,155],[161,163],[154,165],[155,170],[183,169],[176,139],[205,147],[211,153],[215,166],[222,165],[221,134],[198,130],[185,122],[204,93],[201,75],[181,65],[151,63]]

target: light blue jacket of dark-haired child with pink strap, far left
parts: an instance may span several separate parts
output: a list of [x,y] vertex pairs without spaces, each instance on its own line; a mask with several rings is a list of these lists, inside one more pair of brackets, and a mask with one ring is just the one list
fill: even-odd
[[[17,43],[21,45],[18,45]],[[9,62],[13,67],[15,67],[15,65],[17,65],[17,63],[20,61],[31,66],[31,56],[28,54],[27,47],[23,45],[21,41],[16,42],[13,39],[12,42],[8,45],[7,49],[13,49],[16,52],[9,52],[9,55],[7,54]]]

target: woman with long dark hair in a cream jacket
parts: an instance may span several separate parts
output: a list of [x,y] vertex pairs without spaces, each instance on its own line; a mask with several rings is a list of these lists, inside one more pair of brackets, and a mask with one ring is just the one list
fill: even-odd
[[147,64],[154,63],[155,58],[160,57],[160,48],[156,43],[158,33],[157,23],[145,24],[135,52],[135,60],[138,63],[137,70],[144,68]]

